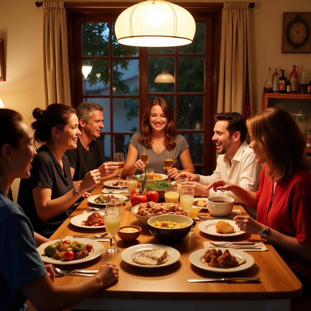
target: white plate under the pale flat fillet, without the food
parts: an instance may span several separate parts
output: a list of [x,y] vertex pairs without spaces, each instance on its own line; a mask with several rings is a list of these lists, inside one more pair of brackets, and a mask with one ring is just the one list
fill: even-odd
[[[167,258],[169,259],[167,262],[162,263],[157,266],[146,266],[146,265],[140,265],[139,263],[133,262],[132,259],[136,256],[138,256],[142,251],[145,251],[147,249],[152,249],[152,248],[165,248],[167,250]],[[121,253],[121,258],[127,262],[128,264],[135,266],[135,267],[140,267],[140,268],[160,268],[160,267],[165,267],[172,265],[176,261],[179,260],[180,258],[180,253],[177,249],[172,248],[170,246],[166,245],[160,245],[160,244],[138,244],[134,245],[131,247],[128,247],[124,249],[124,251]]]

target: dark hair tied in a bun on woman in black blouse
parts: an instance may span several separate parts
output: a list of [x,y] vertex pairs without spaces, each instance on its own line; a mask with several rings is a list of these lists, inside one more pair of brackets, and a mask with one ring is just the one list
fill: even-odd
[[32,112],[35,121],[30,125],[35,130],[35,142],[47,142],[51,137],[52,128],[62,130],[68,123],[70,115],[74,113],[76,113],[74,108],[63,104],[50,104],[45,110],[35,108]]

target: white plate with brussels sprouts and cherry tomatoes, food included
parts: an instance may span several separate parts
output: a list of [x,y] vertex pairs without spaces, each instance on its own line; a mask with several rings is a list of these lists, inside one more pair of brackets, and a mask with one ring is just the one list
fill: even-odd
[[[61,241],[60,239],[52,240],[52,241],[41,244],[37,248],[37,252],[39,253],[39,256],[43,262],[52,263],[53,265],[56,265],[56,266],[73,265],[73,264],[87,262],[92,259],[95,259],[99,257],[104,251],[104,246],[95,240],[76,238],[76,239],[62,241],[62,242],[67,242],[68,244],[60,243],[60,241]],[[69,242],[71,242],[71,244],[69,244]],[[84,249],[86,248],[87,244],[92,245],[92,248],[90,251],[88,251],[87,249]],[[60,251],[66,251],[66,249],[68,250],[68,248],[72,248],[72,252],[74,253],[74,256],[75,256],[72,260],[69,260],[69,261],[60,257],[62,256],[61,255],[62,253]],[[61,254],[58,254],[58,253],[61,253]],[[55,258],[58,258],[58,259],[55,259]]]

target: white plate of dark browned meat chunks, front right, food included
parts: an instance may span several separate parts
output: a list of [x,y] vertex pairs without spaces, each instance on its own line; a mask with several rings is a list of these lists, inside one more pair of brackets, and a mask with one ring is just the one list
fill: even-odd
[[189,256],[190,262],[203,270],[212,272],[238,272],[253,266],[254,258],[238,249],[224,247],[202,248]]

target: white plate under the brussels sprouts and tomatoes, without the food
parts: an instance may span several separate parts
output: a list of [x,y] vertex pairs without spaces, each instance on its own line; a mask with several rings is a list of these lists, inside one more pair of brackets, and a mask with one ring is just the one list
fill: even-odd
[[52,241],[41,244],[37,248],[37,252],[39,253],[40,258],[43,262],[52,263],[53,265],[59,266],[59,265],[73,265],[73,264],[77,264],[77,263],[81,263],[81,262],[87,262],[87,261],[90,261],[94,258],[99,257],[104,251],[104,246],[97,241],[90,240],[90,239],[83,239],[83,238],[73,238],[71,240],[72,241],[79,241],[79,242],[84,243],[84,244],[92,244],[93,248],[92,248],[89,256],[87,256],[86,258],[77,259],[77,260],[74,259],[71,261],[56,260],[56,259],[53,259],[53,258],[46,256],[44,254],[44,248],[46,248],[48,245],[54,244],[55,242],[59,241],[59,239],[52,240]]

